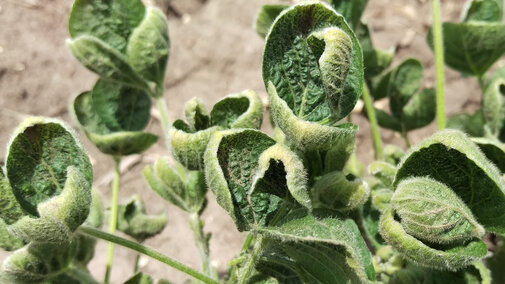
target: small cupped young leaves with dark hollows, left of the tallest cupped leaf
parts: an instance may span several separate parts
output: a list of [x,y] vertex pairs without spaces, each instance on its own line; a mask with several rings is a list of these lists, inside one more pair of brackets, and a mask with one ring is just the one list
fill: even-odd
[[[245,90],[217,102],[210,118],[196,99],[186,104],[185,114],[189,124],[182,120],[174,122],[170,129],[170,144],[177,161],[190,170],[201,170],[204,167],[203,153],[211,135],[227,128],[260,128],[263,105],[256,92]],[[210,123],[204,128],[207,119]]]

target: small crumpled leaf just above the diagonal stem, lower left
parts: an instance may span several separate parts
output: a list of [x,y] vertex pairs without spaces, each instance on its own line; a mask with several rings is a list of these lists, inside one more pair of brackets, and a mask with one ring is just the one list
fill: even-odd
[[165,212],[159,215],[147,215],[144,202],[138,195],[118,207],[117,228],[131,236],[137,242],[151,238],[159,234],[167,224]]

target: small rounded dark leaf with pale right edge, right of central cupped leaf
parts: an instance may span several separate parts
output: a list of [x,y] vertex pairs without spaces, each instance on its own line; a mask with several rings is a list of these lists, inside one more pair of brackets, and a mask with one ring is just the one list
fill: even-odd
[[370,196],[368,184],[354,175],[332,172],[311,189],[314,207],[348,212],[363,206]]

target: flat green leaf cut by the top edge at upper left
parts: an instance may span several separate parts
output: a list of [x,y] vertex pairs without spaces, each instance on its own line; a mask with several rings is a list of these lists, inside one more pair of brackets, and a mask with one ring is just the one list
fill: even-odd
[[70,35],[91,35],[125,53],[145,10],[140,0],[75,0],[68,21]]

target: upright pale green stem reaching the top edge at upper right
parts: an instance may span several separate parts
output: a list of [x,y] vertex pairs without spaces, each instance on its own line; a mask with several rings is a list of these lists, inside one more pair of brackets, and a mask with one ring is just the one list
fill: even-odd
[[442,23],[440,20],[440,0],[432,0],[433,9],[433,45],[435,50],[435,67],[437,72],[437,122],[438,129],[445,128],[445,97],[444,97],[444,43]]

